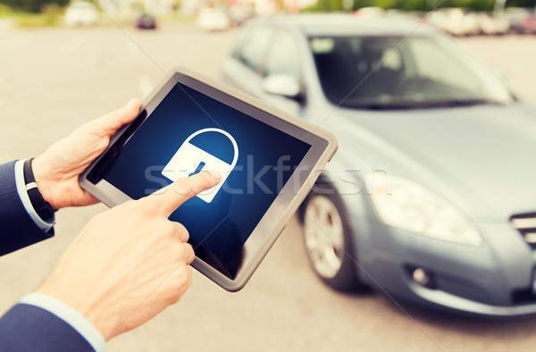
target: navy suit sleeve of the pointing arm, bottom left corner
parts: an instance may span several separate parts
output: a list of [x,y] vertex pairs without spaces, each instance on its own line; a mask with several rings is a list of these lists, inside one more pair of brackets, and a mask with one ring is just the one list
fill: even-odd
[[71,325],[39,308],[19,304],[0,318],[0,352],[91,352]]

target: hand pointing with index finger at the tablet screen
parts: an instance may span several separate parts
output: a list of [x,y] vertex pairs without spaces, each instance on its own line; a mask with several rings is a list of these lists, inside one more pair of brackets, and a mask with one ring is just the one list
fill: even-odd
[[218,172],[199,172],[96,215],[38,292],[86,316],[106,340],[147,322],[178,302],[191,281],[188,230],[168,217],[221,180]]

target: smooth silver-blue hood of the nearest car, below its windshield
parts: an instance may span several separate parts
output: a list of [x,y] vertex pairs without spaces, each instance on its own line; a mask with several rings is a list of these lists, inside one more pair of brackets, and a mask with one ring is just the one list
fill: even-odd
[[531,105],[339,108],[328,121],[322,127],[339,138],[339,161],[367,163],[365,168],[418,181],[473,218],[536,212],[536,109]]

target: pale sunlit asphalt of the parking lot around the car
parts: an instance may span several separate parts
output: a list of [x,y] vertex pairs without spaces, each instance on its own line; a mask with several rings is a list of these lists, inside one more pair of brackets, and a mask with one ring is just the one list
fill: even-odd
[[[0,25],[0,163],[38,155],[83,122],[142,98],[173,66],[218,79],[236,31],[190,24],[155,32],[11,29]],[[536,37],[464,38],[536,104]],[[0,257],[0,314],[36,289],[105,205],[64,209],[56,236]],[[488,322],[423,312],[381,294],[325,287],[293,219],[246,289],[228,293],[197,272],[180,303],[107,345],[114,351],[529,351],[536,318]]]

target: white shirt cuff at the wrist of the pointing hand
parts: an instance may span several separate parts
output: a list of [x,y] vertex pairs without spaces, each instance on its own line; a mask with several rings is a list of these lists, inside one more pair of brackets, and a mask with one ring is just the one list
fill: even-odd
[[64,304],[56,298],[38,292],[32,292],[24,296],[21,299],[21,303],[38,306],[56,315],[65,323],[71,325],[74,330],[78,331],[88,341],[94,351],[105,352],[105,339],[103,335],[96,330],[96,327],[84,315],[80,314],[71,306]]

